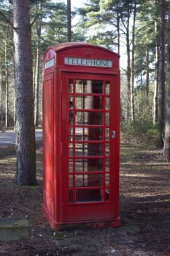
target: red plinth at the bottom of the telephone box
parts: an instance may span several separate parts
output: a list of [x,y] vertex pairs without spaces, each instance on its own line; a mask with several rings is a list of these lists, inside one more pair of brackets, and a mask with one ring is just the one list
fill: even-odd
[[91,229],[97,229],[97,228],[110,228],[110,227],[118,227],[121,225],[121,219],[120,217],[114,218],[114,219],[108,219],[108,220],[87,220],[87,221],[77,221],[77,222],[55,222],[52,220],[52,217],[50,214],[48,214],[46,207],[44,207],[44,204],[42,203],[42,212],[44,213],[44,216],[48,223],[50,224],[50,227],[54,230],[73,230],[77,228],[91,228]]

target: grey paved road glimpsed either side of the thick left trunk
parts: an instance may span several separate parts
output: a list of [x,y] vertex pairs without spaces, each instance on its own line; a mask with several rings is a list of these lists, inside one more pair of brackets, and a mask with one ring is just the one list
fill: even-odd
[[[0,131],[0,146],[15,144],[15,131]],[[42,129],[36,129],[36,139],[42,139]]]

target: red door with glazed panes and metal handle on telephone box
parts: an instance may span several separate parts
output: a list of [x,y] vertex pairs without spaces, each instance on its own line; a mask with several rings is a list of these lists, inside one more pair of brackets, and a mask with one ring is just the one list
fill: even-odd
[[62,72],[63,222],[118,218],[116,122],[116,75]]

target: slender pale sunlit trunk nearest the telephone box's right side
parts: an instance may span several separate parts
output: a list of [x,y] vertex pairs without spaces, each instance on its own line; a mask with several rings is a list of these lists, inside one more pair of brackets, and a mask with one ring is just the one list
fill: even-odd
[[133,26],[132,26],[132,79],[131,79],[131,88],[130,88],[130,117],[132,123],[134,123],[134,39],[135,39],[135,22],[136,22],[136,2],[134,3],[134,17],[133,17]]

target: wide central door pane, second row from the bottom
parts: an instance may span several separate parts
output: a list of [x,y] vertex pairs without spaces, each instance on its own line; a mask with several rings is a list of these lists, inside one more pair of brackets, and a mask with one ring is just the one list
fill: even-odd
[[76,187],[100,187],[103,182],[103,174],[79,174],[75,175]]

